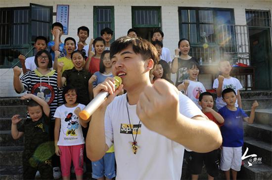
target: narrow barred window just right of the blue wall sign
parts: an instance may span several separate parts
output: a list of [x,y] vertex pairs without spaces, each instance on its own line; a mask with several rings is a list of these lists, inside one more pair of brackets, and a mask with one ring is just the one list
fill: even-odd
[[[93,7],[93,37],[100,37],[100,31],[107,27],[114,31],[114,7]],[[114,37],[112,37],[113,40]]]

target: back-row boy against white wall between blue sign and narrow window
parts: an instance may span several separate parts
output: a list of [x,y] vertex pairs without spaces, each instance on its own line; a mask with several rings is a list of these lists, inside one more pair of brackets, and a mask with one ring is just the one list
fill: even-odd
[[86,26],[81,26],[78,28],[79,42],[77,44],[77,50],[83,51],[85,56],[89,56],[89,44],[86,43],[87,38],[89,37],[90,30]]

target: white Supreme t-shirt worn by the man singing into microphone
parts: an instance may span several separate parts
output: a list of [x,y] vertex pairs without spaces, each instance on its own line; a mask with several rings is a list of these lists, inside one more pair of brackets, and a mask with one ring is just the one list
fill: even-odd
[[[195,104],[179,94],[181,114],[191,118],[202,115]],[[116,180],[180,180],[184,146],[148,130],[136,115],[136,105],[129,105],[130,128],[126,94],[116,97],[105,112],[106,144],[114,143],[117,164]],[[204,115],[203,115],[204,116]],[[133,153],[133,137],[139,146]]]

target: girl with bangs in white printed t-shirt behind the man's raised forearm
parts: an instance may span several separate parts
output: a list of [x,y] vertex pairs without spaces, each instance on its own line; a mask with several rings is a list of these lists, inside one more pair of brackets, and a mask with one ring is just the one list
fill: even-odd
[[197,81],[197,76],[199,73],[199,65],[193,61],[187,63],[187,73],[189,74],[189,79],[186,79],[178,86],[178,89],[186,96],[188,96],[198,108],[201,106],[198,104],[199,95],[206,92],[205,87],[199,81]]

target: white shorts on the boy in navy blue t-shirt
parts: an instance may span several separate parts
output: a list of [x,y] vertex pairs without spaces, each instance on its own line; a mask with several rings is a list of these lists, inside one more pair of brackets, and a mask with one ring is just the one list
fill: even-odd
[[240,171],[242,164],[242,146],[241,147],[222,147],[220,169],[228,171]]

